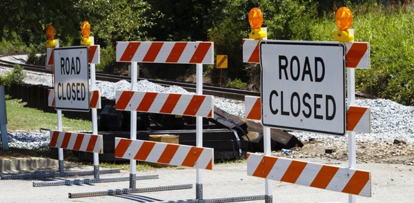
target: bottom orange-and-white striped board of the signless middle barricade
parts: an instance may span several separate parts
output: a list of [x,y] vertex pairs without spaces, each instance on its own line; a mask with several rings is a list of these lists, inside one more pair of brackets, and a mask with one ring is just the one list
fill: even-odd
[[213,148],[115,137],[115,157],[213,170]]

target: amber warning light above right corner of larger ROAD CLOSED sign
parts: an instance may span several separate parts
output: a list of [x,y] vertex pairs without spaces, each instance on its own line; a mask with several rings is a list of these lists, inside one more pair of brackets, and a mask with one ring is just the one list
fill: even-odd
[[353,41],[353,34],[349,32],[349,28],[351,28],[352,25],[351,10],[346,7],[339,8],[336,12],[335,20],[338,30],[335,32],[335,35],[333,35],[333,39],[342,42]]

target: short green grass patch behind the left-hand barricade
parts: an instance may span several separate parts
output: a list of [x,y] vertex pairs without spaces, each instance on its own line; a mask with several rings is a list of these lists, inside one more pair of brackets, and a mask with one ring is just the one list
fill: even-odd
[[[8,131],[39,131],[40,128],[57,129],[56,113],[23,107],[19,99],[6,99]],[[92,131],[92,122],[68,119],[62,116],[63,131]]]

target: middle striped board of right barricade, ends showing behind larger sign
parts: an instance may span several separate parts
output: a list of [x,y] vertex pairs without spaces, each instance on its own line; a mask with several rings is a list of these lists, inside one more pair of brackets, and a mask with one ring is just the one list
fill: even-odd
[[[260,97],[245,96],[244,108],[246,119],[262,119]],[[346,131],[371,133],[371,108],[348,106],[348,110],[346,111]]]

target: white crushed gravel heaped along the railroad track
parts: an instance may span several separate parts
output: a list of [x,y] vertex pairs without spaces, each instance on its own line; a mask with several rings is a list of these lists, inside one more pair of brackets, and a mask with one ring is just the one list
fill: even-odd
[[[10,71],[10,68],[1,68],[0,74]],[[52,76],[28,71],[26,84],[41,84],[52,86]],[[129,90],[128,81],[119,81],[112,83],[108,81],[97,81],[97,89],[101,95],[108,99],[115,99],[115,90]],[[179,86],[164,87],[153,84],[150,81],[138,81],[137,90],[159,93],[188,93],[184,88]],[[194,93],[189,93],[194,94]],[[357,141],[385,141],[393,142],[394,139],[404,140],[406,143],[414,143],[414,107],[402,106],[394,101],[387,99],[357,99],[356,106],[371,107],[371,127],[372,133],[357,133]],[[244,117],[244,102],[232,99],[215,97],[215,106],[226,110],[226,112]],[[290,132],[298,139],[307,141],[308,139],[335,139],[340,142],[346,142],[347,136],[322,135],[317,133]],[[10,146],[19,148],[44,148],[48,145],[48,133],[10,133]],[[26,144],[25,144],[26,143]]]

